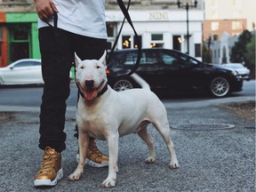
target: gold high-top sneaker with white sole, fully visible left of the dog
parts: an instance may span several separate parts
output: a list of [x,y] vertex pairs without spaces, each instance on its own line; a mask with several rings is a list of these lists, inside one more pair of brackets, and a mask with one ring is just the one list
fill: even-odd
[[54,186],[62,177],[61,154],[54,148],[45,148],[43,163],[39,172],[36,173],[34,186]]

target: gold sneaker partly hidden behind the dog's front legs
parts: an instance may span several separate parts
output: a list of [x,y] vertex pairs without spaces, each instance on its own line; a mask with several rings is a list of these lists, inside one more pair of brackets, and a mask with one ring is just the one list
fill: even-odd
[[[79,161],[79,154],[76,155],[76,161]],[[85,163],[91,165],[92,167],[107,167],[108,166],[108,156],[105,156],[99,148],[97,148],[96,142],[91,141],[90,146],[87,151],[87,156]]]

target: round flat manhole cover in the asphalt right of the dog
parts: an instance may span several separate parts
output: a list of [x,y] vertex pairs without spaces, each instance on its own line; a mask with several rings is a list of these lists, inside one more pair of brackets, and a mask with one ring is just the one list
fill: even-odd
[[187,131],[214,131],[234,128],[234,124],[184,124],[179,127],[172,127],[173,129],[187,130]]

